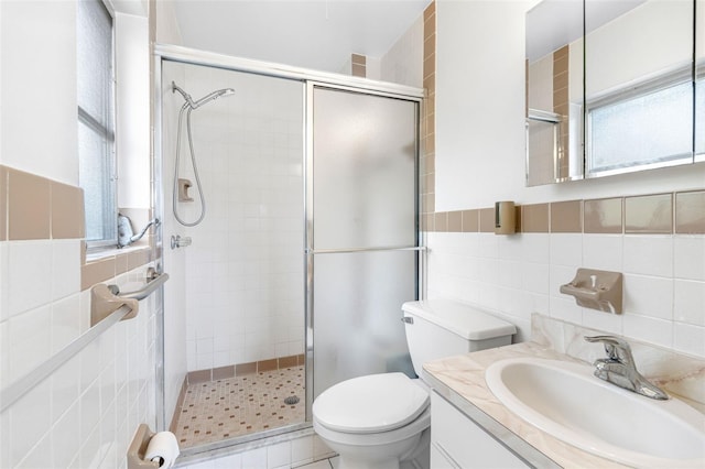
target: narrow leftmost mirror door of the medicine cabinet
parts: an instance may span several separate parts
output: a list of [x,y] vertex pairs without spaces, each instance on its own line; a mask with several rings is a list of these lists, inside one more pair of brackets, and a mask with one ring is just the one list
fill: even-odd
[[527,13],[527,185],[583,177],[583,0]]

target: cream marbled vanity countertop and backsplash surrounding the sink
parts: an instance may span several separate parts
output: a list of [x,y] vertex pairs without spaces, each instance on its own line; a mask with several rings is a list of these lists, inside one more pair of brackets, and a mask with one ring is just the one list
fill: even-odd
[[[538,468],[625,468],[568,445],[505,407],[485,382],[491,363],[509,358],[543,358],[588,364],[605,356],[586,335],[604,331],[533,314],[532,341],[424,363],[424,379],[465,415],[511,451]],[[652,383],[705,414],[705,359],[626,338],[639,371]]]

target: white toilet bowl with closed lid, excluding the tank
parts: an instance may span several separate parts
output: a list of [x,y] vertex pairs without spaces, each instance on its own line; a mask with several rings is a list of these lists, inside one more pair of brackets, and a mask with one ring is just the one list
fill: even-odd
[[399,469],[430,437],[429,389],[403,373],[338,383],[316,399],[313,415],[316,434],[340,455],[339,469]]

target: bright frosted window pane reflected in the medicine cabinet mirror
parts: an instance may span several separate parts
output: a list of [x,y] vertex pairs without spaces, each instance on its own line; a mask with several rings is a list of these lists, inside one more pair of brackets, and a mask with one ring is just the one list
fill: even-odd
[[592,109],[588,172],[692,160],[692,110],[691,83]]

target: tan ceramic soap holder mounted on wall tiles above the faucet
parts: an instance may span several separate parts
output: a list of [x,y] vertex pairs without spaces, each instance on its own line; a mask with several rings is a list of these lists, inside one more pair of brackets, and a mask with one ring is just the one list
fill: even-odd
[[619,272],[578,269],[573,281],[561,285],[561,293],[575,296],[575,303],[583,307],[621,314],[622,275]]

